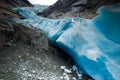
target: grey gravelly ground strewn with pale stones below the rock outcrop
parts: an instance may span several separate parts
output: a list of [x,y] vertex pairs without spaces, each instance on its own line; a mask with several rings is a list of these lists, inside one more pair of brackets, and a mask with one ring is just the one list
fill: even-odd
[[20,43],[6,47],[0,53],[0,80],[62,80],[60,67],[70,69],[72,65],[61,59],[54,50]]

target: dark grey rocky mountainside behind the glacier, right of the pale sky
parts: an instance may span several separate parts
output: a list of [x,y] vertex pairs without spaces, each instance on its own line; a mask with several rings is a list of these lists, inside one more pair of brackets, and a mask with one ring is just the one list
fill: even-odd
[[49,16],[54,12],[72,12],[80,13],[86,9],[97,9],[102,5],[108,5],[118,2],[118,0],[58,0],[54,5],[44,10],[40,15]]

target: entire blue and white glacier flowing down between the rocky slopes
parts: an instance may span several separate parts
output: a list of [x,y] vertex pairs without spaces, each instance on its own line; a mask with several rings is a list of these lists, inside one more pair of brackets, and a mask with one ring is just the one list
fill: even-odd
[[120,4],[100,8],[100,15],[93,19],[47,19],[38,17],[33,10],[21,9],[15,11],[26,19],[14,20],[45,31],[83,73],[95,80],[120,79]]

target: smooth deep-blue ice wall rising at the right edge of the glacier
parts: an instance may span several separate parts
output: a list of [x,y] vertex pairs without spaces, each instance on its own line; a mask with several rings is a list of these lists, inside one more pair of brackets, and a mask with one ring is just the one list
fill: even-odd
[[110,40],[120,44],[120,4],[104,6],[93,22],[95,26]]

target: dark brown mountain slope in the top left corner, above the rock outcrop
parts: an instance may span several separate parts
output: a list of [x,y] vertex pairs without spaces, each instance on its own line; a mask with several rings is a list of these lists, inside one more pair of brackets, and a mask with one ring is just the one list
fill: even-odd
[[27,0],[0,0],[0,18],[20,17],[20,15],[11,10],[11,8],[18,6],[32,6],[32,4]]

